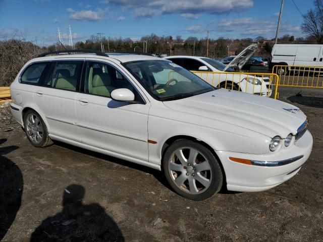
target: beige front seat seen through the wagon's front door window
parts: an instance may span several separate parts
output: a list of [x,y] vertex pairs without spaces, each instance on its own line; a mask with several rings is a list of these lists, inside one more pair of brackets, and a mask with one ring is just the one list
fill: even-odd
[[111,78],[107,73],[99,73],[94,75],[92,80],[92,92],[105,97],[111,97],[111,92],[116,88],[111,85]]

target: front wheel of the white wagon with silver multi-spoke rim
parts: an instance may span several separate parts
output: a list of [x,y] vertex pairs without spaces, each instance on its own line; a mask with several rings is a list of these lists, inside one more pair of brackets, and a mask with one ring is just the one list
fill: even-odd
[[177,140],[163,158],[165,176],[176,193],[200,201],[218,193],[223,184],[219,161],[198,142]]

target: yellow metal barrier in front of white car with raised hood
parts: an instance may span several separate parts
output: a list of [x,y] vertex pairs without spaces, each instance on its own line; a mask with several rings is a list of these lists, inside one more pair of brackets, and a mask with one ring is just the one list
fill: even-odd
[[[241,73],[241,72],[196,72],[195,75],[211,84],[214,87],[226,88],[260,96],[270,97],[274,93],[274,98],[278,96],[277,84],[279,77],[272,73]],[[168,80],[185,81],[183,76],[176,72],[170,72]],[[183,80],[182,80],[183,79]]]

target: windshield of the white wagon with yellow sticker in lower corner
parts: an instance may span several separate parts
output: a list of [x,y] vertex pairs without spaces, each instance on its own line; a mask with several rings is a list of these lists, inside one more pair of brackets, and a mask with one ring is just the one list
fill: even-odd
[[153,98],[160,101],[181,99],[216,89],[169,61],[135,61],[123,65]]

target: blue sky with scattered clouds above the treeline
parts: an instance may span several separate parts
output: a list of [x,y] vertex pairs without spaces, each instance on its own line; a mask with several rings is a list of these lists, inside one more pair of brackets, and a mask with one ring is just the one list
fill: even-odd
[[[305,37],[301,14],[313,8],[313,0],[294,3],[285,0],[280,36]],[[0,0],[0,40],[24,38],[47,46],[58,41],[59,27],[68,43],[69,25],[74,42],[97,33],[133,40],[151,33],[205,38],[207,30],[214,39],[271,39],[280,6],[281,0]]]

